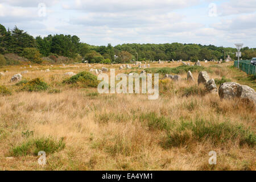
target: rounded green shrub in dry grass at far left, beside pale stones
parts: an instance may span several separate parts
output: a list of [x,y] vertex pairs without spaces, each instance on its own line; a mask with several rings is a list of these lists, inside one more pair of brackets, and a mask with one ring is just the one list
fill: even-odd
[[25,81],[21,90],[26,90],[28,92],[39,92],[48,89],[46,82],[42,81],[40,78],[35,78],[31,81]]

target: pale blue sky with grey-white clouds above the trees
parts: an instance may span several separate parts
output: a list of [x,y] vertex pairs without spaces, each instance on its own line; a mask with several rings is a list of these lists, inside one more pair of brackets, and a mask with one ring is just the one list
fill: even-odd
[[95,46],[196,43],[256,47],[256,0],[0,0],[0,24]]

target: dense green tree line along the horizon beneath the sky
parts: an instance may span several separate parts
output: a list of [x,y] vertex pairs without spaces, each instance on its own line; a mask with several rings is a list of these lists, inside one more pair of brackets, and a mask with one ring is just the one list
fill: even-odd
[[[230,55],[236,59],[236,48],[201,44],[122,44],[117,46],[92,46],[82,43],[76,35],[48,35],[34,38],[28,32],[14,27],[12,30],[0,24],[0,54],[17,53],[34,63],[42,63],[42,57],[65,56],[89,63],[127,63],[130,60],[219,60]],[[256,57],[256,48],[242,48],[242,59]]]

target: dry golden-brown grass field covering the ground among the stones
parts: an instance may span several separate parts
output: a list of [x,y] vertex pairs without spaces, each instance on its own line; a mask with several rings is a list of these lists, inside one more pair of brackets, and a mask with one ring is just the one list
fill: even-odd
[[[225,76],[256,89],[255,80],[232,68],[233,63],[201,64],[210,78]],[[142,70],[91,65],[116,68],[116,74]],[[151,64],[148,70],[179,66]],[[148,100],[147,94],[98,94],[97,88],[63,82],[70,77],[64,73],[89,69],[86,64],[0,68],[8,71],[0,77],[5,86],[0,94],[1,170],[255,170],[254,106],[206,93],[197,85],[199,71],[192,72],[195,82],[186,80],[187,72],[180,72],[179,82],[160,80],[158,100]],[[27,82],[10,82],[25,70],[22,80],[41,78],[46,90],[29,92]],[[40,150],[47,155],[43,167]],[[217,152],[217,165],[209,165],[210,151]]]

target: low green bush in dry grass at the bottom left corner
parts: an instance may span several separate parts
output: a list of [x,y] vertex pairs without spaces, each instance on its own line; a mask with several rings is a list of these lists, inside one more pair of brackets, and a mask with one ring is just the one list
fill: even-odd
[[63,138],[59,141],[53,138],[39,138],[30,139],[22,144],[11,148],[11,156],[26,156],[26,155],[38,155],[39,151],[44,151],[46,154],[52,154],[56,151],[60,151],[65,147]]

